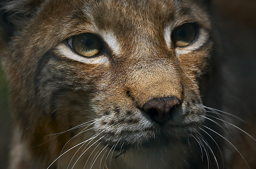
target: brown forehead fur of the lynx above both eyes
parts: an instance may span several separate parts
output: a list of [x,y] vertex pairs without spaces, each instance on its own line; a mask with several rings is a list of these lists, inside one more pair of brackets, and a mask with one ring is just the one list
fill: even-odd
[[[25,0],[24,0],[25,1]],[[42,53],[73,35],[91,32],[98,36],[112,34],[127,51],[147,50],[163,41],[163,32],[169,25],[170,29],[184,22],[197,22],[209,28],[208,18],[200,1],[79,1],[49,0],[25,1],[27,7],[20,6],[20,1],[12,1],[6,5],[10,14],[8,19],[21,29],[15,33],[19,41],[32,42],[27,47]],[[24,2],[23,2],[24,3]],[[61,10],[60,10],[61,9]],[[171,9],[171,10],[170,10]],[[26,11],[27,10],[27,11]],[[18,18],[14,13],[27,17]],[[26,20],[20,23],[20,20]],[[18,21],[19,20],[19,21]],[[29,24],[28,24],[29,23]],[[141,42],[150,42],[143,44]],[[44,45],[42,45],[44,43]],[[132,45],[131,45],[132,44]],[[32,46],[33,45],[33,46]],[[134,48],[137,46],[137,48]]]

